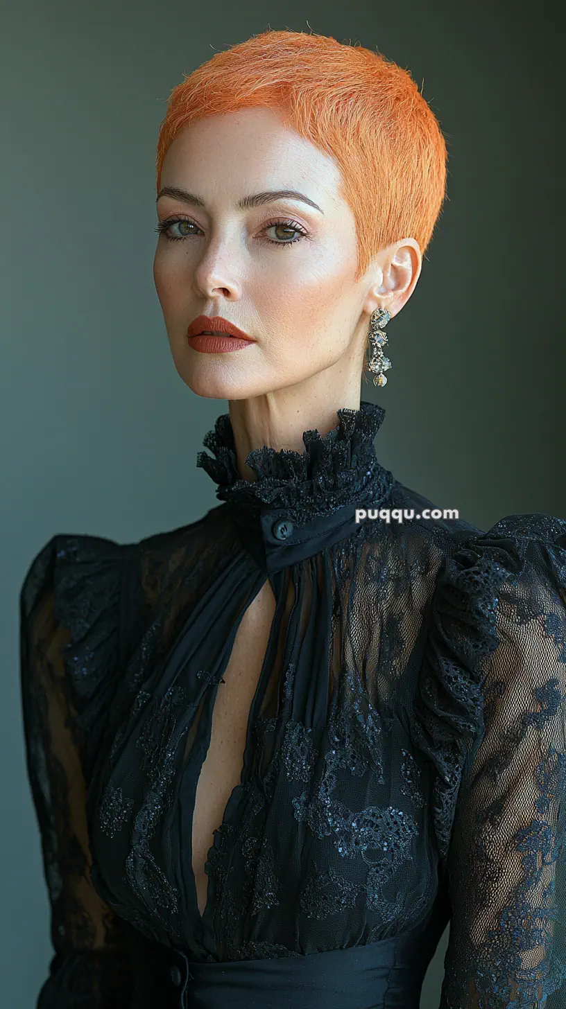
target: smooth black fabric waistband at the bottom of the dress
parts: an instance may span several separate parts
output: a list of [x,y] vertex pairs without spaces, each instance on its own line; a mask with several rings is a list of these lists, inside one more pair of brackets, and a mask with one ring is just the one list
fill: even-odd
[[433,915],[417,929],[366,945],[222,963],[148,945],[132,959],[131,1009],[418,1009],[440,934]]

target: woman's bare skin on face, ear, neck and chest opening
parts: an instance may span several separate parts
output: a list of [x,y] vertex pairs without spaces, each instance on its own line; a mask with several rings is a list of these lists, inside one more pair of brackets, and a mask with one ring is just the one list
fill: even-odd
[[[302,452],[303,431],[316,428],[324,435],[338,424],[339,408],[359,409],[371,314],[379,306],[395,316],[420,274],[420,249],[406,237],[380,250],[355,282],[355,219],[339,194],[340,182],[334,159],[271,109],[246,109],[185,127],[164,159],[162,190],[184,190],[204,202],[197,206],[161,191],[158,197],[159,221],[183,222],[168,225],[169,238],[160,235],[154,260],[171,352],[193,393],[228,401],[245,479],[255,476],[246,465],[252,449]],[[298,191],[319,209],[288,197],[239,208],[243,197],[268,190]],[[198,315],[221,316],[255,343],[230,353],[199,352],[186,336]],[[192,866],[201,914],[204,864],[241,781],[250,706],[274,610],[267,581],[244,614],[216,693],[193,813]]]

